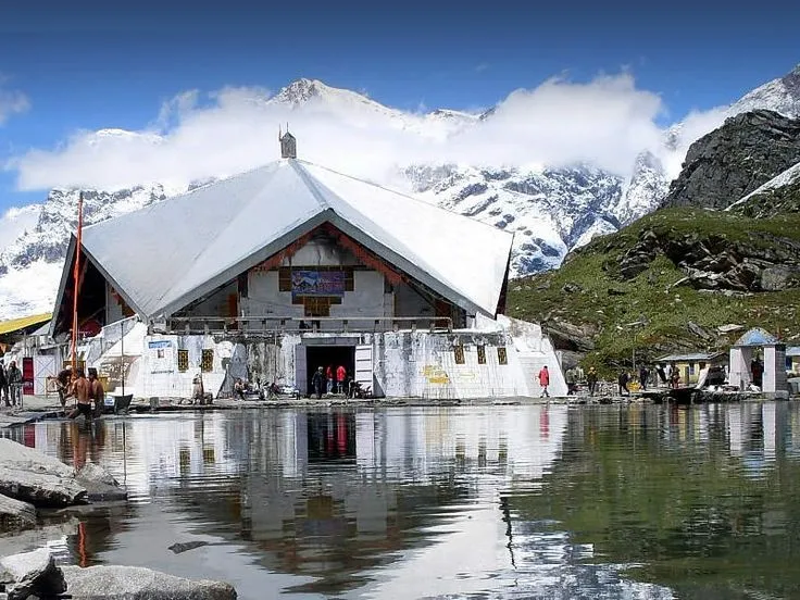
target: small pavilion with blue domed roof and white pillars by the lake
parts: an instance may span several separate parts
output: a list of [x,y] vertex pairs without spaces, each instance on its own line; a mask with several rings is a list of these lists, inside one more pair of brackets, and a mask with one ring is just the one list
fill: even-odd
[[746,332],[730,348],[730,385],[787,393],[786,345],[761,327]]

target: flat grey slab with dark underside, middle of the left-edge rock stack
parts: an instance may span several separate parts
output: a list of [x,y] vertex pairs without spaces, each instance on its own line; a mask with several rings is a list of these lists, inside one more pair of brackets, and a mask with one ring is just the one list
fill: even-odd
[[0,493],[35,507],[68,507],[86,500],[86,488],[71,477],[0,466]]

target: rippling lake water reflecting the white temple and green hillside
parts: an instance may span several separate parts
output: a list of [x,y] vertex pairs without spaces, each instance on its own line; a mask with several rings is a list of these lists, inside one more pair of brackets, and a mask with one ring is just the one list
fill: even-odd
[[[225,579],[245,600],[800,597],[797,403],[228,411],[10,435],[130,490],[51,520],[64,563]],[[191,541],[207,545],[168,548]]]

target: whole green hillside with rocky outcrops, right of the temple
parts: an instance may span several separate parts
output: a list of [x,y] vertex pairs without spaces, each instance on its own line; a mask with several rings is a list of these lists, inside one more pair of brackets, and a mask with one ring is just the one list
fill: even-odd
[[799,214],[664,209],[593,240],[558,271],[511,282],[509,312],[611,368],[629,364],[634,348],[650,359],[726,348],[740,335],[720,333],[727,324],[799,340],[798,286]]

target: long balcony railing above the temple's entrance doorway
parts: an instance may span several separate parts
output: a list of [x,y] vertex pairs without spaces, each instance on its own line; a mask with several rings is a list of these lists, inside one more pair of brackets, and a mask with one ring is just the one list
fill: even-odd
[[[407,325],[401,327],[401,325]],[[151,323],[153,332],[177,335],[248,335],[282,333],[385,333],[417,329],[452,332],[449,316],[173,316]]]

